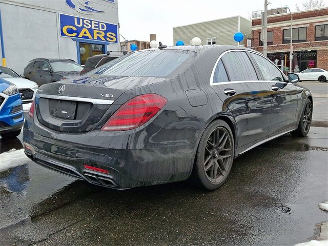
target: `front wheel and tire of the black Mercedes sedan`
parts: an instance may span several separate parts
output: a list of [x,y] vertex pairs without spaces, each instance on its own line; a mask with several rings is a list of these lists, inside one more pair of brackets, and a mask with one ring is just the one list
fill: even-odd
[[307,98],[301,114],[301,118],[299,119],[298,122],[298,127],[295,131],[291,132],[293,136],[305,137],[306,135],[308,135],[311,128],[312,112],[313,112],[313,107],[312,107],[311,100]]

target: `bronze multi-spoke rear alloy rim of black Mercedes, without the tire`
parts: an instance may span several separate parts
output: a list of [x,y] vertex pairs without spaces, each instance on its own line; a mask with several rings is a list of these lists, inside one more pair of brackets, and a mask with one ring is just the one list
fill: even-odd
[[210,134],[203,155],[204,171],[212,183],[220,182],[229,174],[231,155],[231,136],[224,127],[217,127]]

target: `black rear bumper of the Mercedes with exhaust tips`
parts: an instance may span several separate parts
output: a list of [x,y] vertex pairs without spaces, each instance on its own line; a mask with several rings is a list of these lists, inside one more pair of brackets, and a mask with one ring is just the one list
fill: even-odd
[[[26,155],[40,166],[95,185],[113,189],[157,185],[186,180],[192,171],[197,148],[195,130],[185,130],[184,137],[190,140],[171,141],[181,135],[177,133],[181,129],[168,134],[167,129],[151,124],[148,127],[157,134],[156,140],[150,130],[145,129],[118,136],[112,132],[59,134],[31,121],[28,117],[24,125]],[[157,144],[147,146],[154,141]]]

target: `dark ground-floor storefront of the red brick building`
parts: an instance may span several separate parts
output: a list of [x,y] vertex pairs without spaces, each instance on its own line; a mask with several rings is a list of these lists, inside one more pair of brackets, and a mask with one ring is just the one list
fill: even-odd
[[[290,59],[289,52],[281,52],[281,53],[269,53],[268,58],[273,62],[278,60],[278,65],[281,65],[281,60],[283,60],[284,67],[289,68]],[[317,67],[317,50],[301,50],[293,52],[293,60],[292,60],[292,71],[299,72],[308,69],[308,68],[316,68]]]

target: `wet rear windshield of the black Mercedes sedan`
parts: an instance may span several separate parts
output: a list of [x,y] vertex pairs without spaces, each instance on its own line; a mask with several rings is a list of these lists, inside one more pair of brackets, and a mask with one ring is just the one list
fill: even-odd
[[170,77],[185,69],[192,60],[193,51],[148,50],[132,53],[107,63],[92,74],[111,76]]

